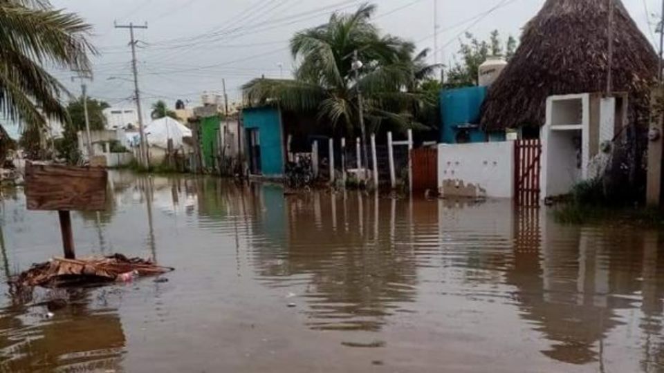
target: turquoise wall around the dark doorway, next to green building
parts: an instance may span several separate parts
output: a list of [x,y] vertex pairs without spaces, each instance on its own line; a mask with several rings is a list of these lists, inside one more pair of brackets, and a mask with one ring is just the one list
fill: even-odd
[[[261,149],[261,171],[264,176],[284,175],[284,139],[281,114],[276,108],[248,108],[242,111],[244,141],[249,144],[247,130],[257,129]],[[249,152],[247,151],[247,154]]]

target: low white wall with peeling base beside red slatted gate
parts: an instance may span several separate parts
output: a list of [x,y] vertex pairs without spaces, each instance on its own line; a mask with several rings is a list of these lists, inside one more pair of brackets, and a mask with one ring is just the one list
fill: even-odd
[[[514,142],[439,144],[438,185],[443,197],[454,191],[443,186],[454,182],[459,191],[474,187],[477,196],[512,198],[514,195]],[[463,195],[463,193],[461,193]]]

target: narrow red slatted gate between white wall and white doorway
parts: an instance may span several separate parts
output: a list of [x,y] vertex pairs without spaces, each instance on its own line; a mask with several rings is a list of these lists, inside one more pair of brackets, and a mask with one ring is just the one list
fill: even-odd
[[519,140],[514,150],[515,203],[519,206],[540,206],[540,173],[542,142]]

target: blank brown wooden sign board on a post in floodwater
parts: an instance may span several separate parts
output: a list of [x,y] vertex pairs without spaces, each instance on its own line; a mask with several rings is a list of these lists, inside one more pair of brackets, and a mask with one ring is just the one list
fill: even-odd
[[26,165],[28,210],[58,212],[65,258],[75,259],[69,211],[104,210],[108,178],[100,167]]

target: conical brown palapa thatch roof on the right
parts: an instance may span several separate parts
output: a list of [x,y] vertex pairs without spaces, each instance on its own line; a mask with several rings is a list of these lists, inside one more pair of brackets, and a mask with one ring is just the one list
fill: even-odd
[[[640,116],[647,110],[658,57],[622,1],[611,1],[614,91],[628,92],[630,113]],[[490,87],[482,125],[489,130],[542,126],[546,97],[605,91],[608,24],[607,0],[547,0],[526,23],[513,59]]]

